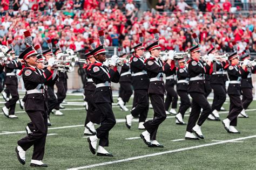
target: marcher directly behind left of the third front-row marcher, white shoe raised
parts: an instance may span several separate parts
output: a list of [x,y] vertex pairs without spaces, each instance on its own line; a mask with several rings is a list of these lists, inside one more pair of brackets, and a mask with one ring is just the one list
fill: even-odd
[[125,124],[126,127],[130,129],[133,117],[139,116],[138,129],[145,129],[143,124],[146,121],[147,112],[149,112],[149,95],[147,94],[149,88],[149,76],[147,76],[146,66],[143,59],[143,44],[140,43],[134,46],[133,49],[134,56],[130,59],[130,65],[134,98],[131,114],[125,117]]

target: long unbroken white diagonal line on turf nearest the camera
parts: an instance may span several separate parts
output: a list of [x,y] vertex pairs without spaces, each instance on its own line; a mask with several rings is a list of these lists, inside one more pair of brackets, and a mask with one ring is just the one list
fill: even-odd
[[192,150],[192,149],[195,149],[195,148],[206,147],[206,146],[225,144],[225,143],[230,143],[230,142],[233,142],[233,141],[250,139],[250,138],[255,138],[255,137],[256,137],[256,135],[242,137],[242,138],[236,138],[236,139],[230,139],[230,140],[223,140],[223,141],[218,141],[218,142],[210,143],[210,144],[197,145],[197,146],[191,146],[191,147],[184,147],[184,148],[179,148],[177,150],[164,151],[164,152],[158,152],[158,153],[153,153],[153,154],[146,154],[146,155],[142,155],[142,156],[138,156],[138,157],[131,157],[131,158],[120,159],[120,160],[115,160],[115,161],[103,162],[103,163],[100,163],[100,164],[93,164],[93,165],[87,165],[87,166],[82,166],[82,167],[70,168],[68,170],[71,170],[71,169],[72,170],[75,170],[75,169],[85,169],[85,168],[93,168],[93,167],[105,166],[105,165],[110,165],[110,164],[117,164],[117,163],[120,163],[120,162],[127,162],[127,161],[131,161],[131,160],[142,159],[142,158],[155,157],[155,156],[158,156],[158,155],[174,153],[174,152],[181,152],[181,151],[186,151],[186,150]]

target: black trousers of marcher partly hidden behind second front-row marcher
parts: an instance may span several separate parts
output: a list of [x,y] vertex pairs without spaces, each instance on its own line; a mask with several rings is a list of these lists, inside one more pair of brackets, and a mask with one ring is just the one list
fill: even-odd
[[93,101],[93,93],[94,91],[84,90],[88,104],[84,126],[86,126],[86,124],[89,122],[100,124],[100,110],[97,109],[97,105]]

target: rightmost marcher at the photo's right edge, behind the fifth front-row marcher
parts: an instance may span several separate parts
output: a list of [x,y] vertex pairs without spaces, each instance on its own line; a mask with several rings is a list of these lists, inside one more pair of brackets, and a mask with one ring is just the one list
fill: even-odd
[[[241,57],[241,61],[250,60],[250,55],[245,54]],[[242,90],[242,111],[238,115],[238,117],[245,117],[247,118],[248,115],[246,114],[245,110],[248,108],[248,106],[253,101],[252,96],[252,73],[256,73],[256,67],[255,65],[251,65],[247,68],[248,75],[246,78],[242,77],[241,79],[241,90]]]

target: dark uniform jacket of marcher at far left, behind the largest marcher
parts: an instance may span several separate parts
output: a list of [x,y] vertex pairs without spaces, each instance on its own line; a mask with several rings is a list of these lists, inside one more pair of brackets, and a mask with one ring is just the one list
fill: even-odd
[[[12,60],[5,66],[6,79],[5,84],[12,84],[18,86],[17,69],[22,69],[22,64],[19,61]],[[8,73],[14,73],[15,75],[7,75]]]

